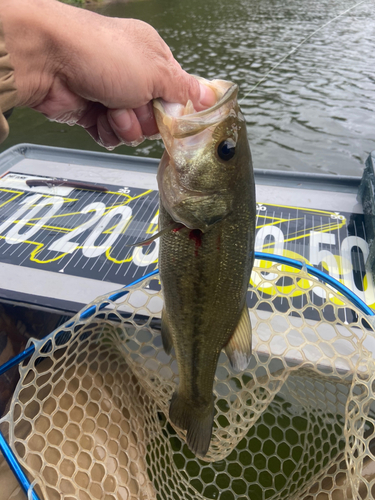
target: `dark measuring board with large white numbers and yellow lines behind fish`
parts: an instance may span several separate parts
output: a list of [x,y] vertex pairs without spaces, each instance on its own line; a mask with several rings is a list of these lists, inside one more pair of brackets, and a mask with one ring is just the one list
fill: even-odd
[[[132,246],[158,230],[157,165],[32,145],[0,155],[0,300],[75,313],[157,268],[158,240]],[[255,179],[255,250],[320,267],[374,305],[360,179],[261,170]]]

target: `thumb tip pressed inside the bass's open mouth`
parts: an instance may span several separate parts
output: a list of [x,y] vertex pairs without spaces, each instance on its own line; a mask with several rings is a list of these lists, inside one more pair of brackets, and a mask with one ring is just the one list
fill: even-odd
[[179,65],[178,69],[174,78],[168,78],[165,82],[164,92],[160,97],[165,101],[181,104],[186,104],[190,100],[196,111],[213,106],[217,101],[215,92],[196,77],[189,75]]

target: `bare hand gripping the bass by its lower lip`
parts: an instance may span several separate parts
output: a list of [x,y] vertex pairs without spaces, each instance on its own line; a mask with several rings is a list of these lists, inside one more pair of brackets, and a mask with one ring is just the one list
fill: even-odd
[[150,25],[57,0],[0,0],[17,106],[78,124],[101,145],[137,145],[158,133],[151,101],[214,104]]

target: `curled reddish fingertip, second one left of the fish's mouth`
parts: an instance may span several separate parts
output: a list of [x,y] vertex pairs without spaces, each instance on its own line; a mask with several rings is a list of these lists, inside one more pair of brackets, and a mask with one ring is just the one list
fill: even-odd
[[127,146],[138,146],[144,140],[141,125],[132,109],[109,109],[107,118],[117,137]]

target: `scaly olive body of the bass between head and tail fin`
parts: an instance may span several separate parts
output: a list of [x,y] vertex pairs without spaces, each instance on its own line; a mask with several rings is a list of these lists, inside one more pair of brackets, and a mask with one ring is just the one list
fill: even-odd
[[[161,227],[167,227],[172,219],[164,208],[160,209]],[[245,217],[240,223],[250,225]],[[189,228],[160,238],[159,266],[163,269],[168,322],[176,330],[177,357],[189,360],[179,371],[180,390],[194,402],[204,397],[204,405],[211,402],[218,356],[238,324],[246,297],[249,269],[241,254],[250,252],[250,248],[240,223],[228,217],[223,224],[202,233],[198,247],[190,238]],[[239,247],[245,250],[241,252]],[[213,337],[210,333],[215,330],[219,336]],[[194,346],[190,340],[184,342],[185,335],[196,339]],[[193,390],[190,369],[194,366],[201,367],[196,374],[201,390],[189,394],[190,388]]]

